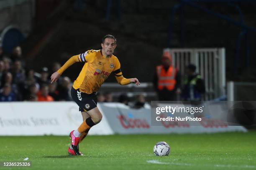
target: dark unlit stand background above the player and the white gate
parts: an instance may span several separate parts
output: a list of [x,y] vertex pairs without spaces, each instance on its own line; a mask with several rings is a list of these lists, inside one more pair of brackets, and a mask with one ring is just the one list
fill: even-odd
[[[138,77],[141,82],[151,82],[155,66],[160,64],[162,50],[166,47],[225,47],[227,80],[256,80],[255,32],[248,30],[241,38],[238,51],[238,35],[244,28],[182,4],[182,1],[112,0],[107,18],[108,2],[36,0],[31,29],[21,43],[27,66],[39,71],[43,66],[50,67],[55,61],[64,64],[72,55],[100,49],[101,38],[113,34],[118,43],[114,54],[121,62],[125,77]],[[244,25],[256,28],[256,1],[191,2],[237,22],[241,20],[239,7]],[[169,44],[171,13],[177,4],[182,4],[182,7],[174,15]],[[21,9],[20,15],[23,12]],[[12,20],[11,17],[9,20]],[[82,67],[82,64],[72,65],[64,75],[75,80],[79,74],[77,67]],[[110,76],[107,82],[115,82],[114,76]]]

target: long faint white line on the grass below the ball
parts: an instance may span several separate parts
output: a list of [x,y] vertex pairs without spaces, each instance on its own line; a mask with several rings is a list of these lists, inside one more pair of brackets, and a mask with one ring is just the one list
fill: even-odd
[[[154,163],[154,164],[162,164],[162,165],[181,165],[181,166],[196,166],[195,164],[190,163],[164,163],[159,160],[147,160],[147,163]],[[201,165],[201,166],[211,166],[211,165]],[[227,167],[227,168],[256,168],[254,165],[212,165],[214,167]]]

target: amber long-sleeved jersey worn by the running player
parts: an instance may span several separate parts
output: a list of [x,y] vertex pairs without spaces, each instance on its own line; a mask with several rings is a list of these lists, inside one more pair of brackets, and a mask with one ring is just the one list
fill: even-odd
[[114,55],[105,57],[101,50],[88,50],[82,54],[74,55],[58,72],[62,74],[74,62],[84,62],[84,67],[73,84],[74,89],[79,88],[80,92],[87,94],[97,92],[111,72],[114,72],[119,84],[126,85],[130,83],[130,80],[125,79],[122,75],[118,58]]

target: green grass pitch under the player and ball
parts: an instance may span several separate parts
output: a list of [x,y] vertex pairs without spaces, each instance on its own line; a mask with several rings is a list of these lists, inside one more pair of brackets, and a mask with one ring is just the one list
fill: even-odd
[[[165,141],[166,157],[153,147]],[[80,144],[84,156],[69,156],[67,136],[0,137],[0,161],[31,161],[22,170],[253,170],[256,132],[215,134],[87,136]]]

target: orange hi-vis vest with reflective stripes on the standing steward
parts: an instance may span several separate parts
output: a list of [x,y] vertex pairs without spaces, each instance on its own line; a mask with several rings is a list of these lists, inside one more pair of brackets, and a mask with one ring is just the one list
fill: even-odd
[[177,68],[170,66],[166,72],[163,65],[158,65],[156,66],[156,73],[158,76],[158,90],[163,90],[164,87],[168,90],[174,90]]

